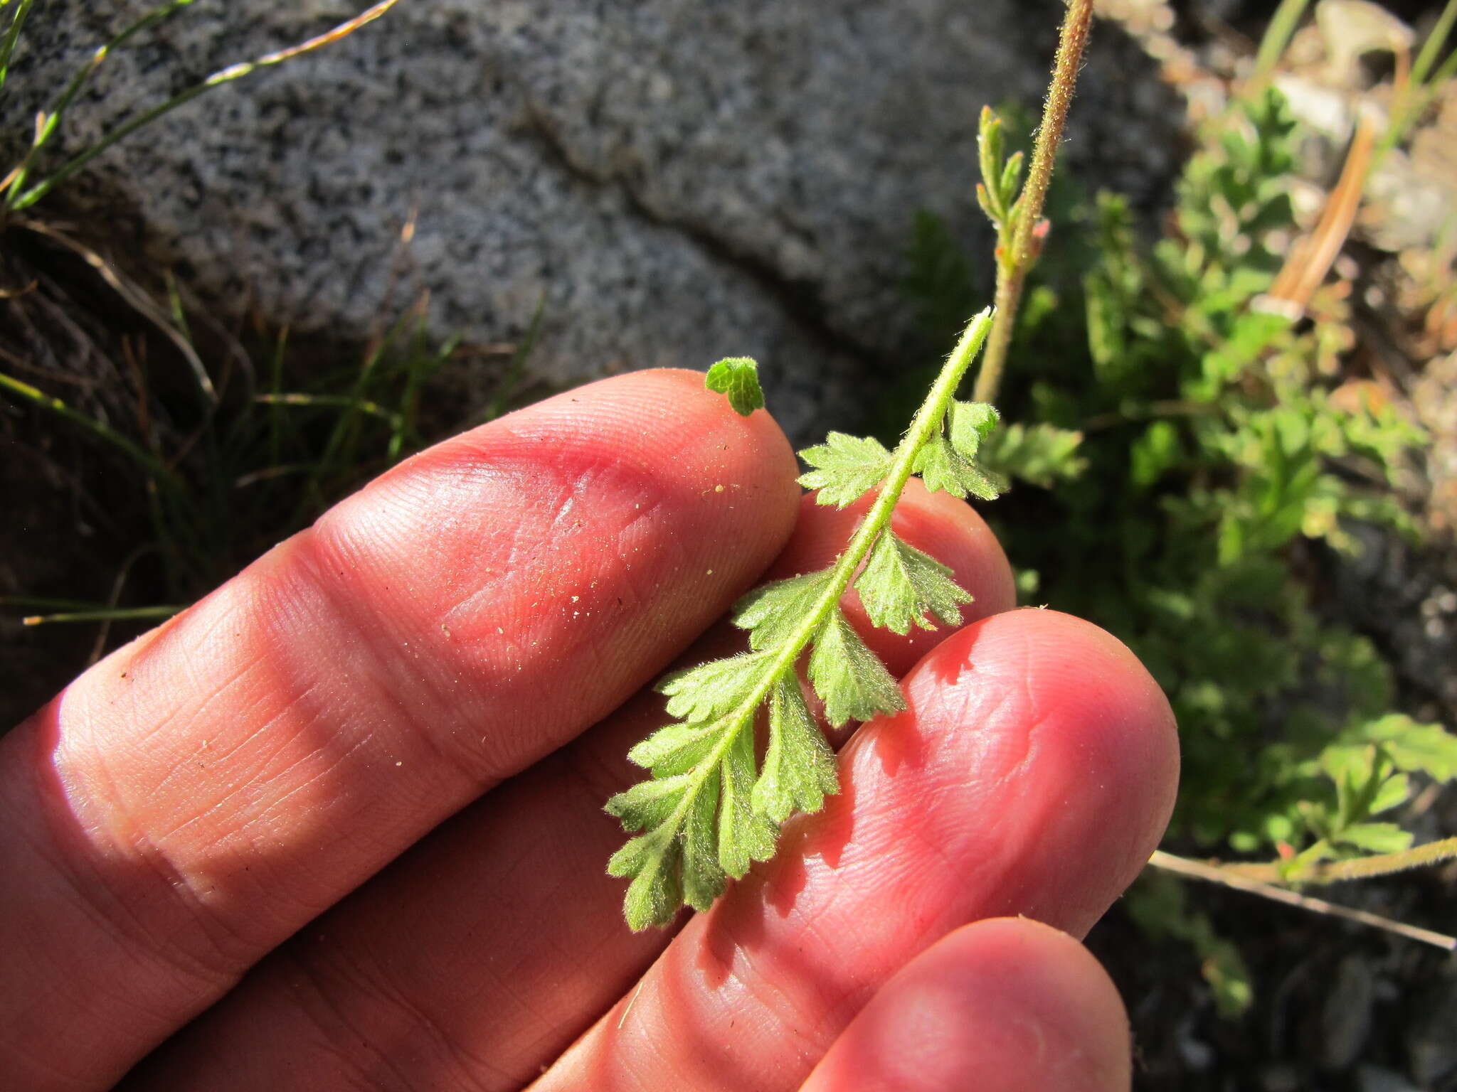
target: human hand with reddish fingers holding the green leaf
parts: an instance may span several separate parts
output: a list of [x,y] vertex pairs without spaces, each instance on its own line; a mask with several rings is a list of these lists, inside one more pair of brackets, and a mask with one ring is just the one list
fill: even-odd
[[970,625],[865,635],[909,709],[710,913],[622,923],[602,804],[641,775],[644,687],[855,518],[796,473],[701,376],[606,380],[390,470],[77,678],[0,741],[4,1088],[154,1048],[128,1086],[1126,1086],[1101,968],[986,919],[1097,920],[1167,821],[1173,719],[1116,641],[1010,610],[944,494],[896,530]]

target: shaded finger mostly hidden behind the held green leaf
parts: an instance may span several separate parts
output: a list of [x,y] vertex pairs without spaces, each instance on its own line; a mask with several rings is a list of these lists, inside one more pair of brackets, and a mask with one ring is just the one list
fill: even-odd
[[[953,568],[976,596],[969,612],[1010,606],[1007,561],[965,504],[922,489],[902,507],[898,530]],[[819,568],[848,531],[807,505],[771,572]],[[166,1044],[138,1086],[191,1088],[221,1061],[226,1088],[274,1092],[392,1088],[401,1059],[420,1088],[535,1077],[667,942],[624,925],[624,884],[605,865],[625,836],[602,811],[643,778],[625,753],[661,716],[643,695],[463,811]]]

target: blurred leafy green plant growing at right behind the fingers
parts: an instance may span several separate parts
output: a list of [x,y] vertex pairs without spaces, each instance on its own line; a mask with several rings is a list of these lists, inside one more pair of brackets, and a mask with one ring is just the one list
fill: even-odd
[[[1457,737],[1393,712],[1375,646],[1316,607],[1313,577],[1359,549],[1359,526],[1415,534],[1393,489],[1422,432],[1346,363],[1346,287],[1316,290],[1303,317],[1268,296],[1298,234],[1300,138],[1276,92],[1237,100],[1199,134],[1151,248],[1116,195],[1067,210],[1097,246],[1039,266],[1000,403],[1017,424],[983,446],[1023,486],[998,505],[1023,587],[1120,636],[1169,693],[1171,843],[1271,855],[1228,868],[1276,884],[1450,856],[1409,850],[1387,817],[1412,775],[1457,773]],[[914,255],[934,237],[922,221]],[[1224,1010],[1247,1005],[1237,952],[1166,895],[1135,888],[1135,916],[1201,951]]]

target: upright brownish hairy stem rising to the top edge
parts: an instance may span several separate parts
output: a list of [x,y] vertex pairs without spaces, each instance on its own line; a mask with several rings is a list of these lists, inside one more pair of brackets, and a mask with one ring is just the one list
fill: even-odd
[[1058,58],[1052,68],[1052,84],[1042,109],[1042,125],[1032,151],[1032,167],[1027,172],[1027,186],[1020,198],[1017,230],[1013,234],[1011,252],[997,264],[997,322],[986,342],[986,355],[976,374],[976,402],[995,402],[1001,389],[1002,370],[1007,367],[1007,351],[1011,348],[1013,328],[1017,325],[1017,306],[1021,303],[1021,288],[1032,265],[1032,234],[1042,220],[1042,205],[1048,199],[1052,183],[1052,166],[1062,143],[1062,128],[1072,106],[1072,89],[1078,82],[1078,66],[1083,64],[1083,50],[1093,22],[1093,0],[1071,0],[1062,19],[1062,36],[1058,42]]

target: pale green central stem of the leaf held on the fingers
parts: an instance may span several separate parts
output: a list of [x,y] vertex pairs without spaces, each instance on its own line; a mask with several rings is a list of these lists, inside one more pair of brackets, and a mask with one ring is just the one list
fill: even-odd
[[692,786],[683,792],[683,798],[673,810],[669,821],[659,827],[660,830],[675,831],[682,827],[689,808],[694,807],[694,801],[708,782],[708,778],[718,769],[718,763],[723,761],[728,748],[739,738],[739,732],[753,724],[755,713],[759,711],[763,699],[768,697],[769,690],[784,677],[784,673],[794,670],[794,661],[800,658],[800,652],[804,651],[810,641],[814,639],[814,633],[825,625],[825,620],[845,594],[849,582],[855,578],[860,563],[870,553],[870,547],[876,545],[876,539],[890,526],[890,515],[900,499],[900,492],[905,489],[906,482],[911,480],[915,457],[946,419],[951,399],[956,397],[956,389],[962,384],[966,370],[986,341],[986,335],[992,328],[992,309],[988,309],[966,325],[960,341],[956,342],[956,348],[946,358],[941,374],[935,377],[935,383],[927,395],[925,402],[916,411],[911,428],[900,438],[895,460],[890,464],[890,473],[881,483],[880,492],[876,495],[876,502],[865,513],[865,518],[851,536],[845,552],[835,562],[823,594],[814,601],[814,607],[806,612],[804,619],[794,632],[779,644],[774,661],[763,670],[753,690],[749,692],[734,713],[726,718],[731,728],[724,731],[723,738],[698,763]]

